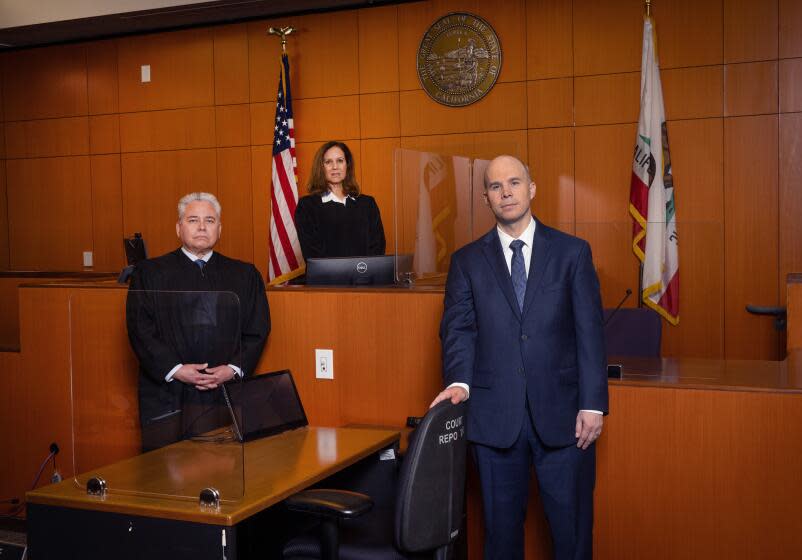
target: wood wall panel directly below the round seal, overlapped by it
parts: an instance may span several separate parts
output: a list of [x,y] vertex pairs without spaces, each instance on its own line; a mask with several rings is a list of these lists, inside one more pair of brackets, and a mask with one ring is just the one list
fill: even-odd
[[423,90],[401,92],[401,135],[450,134],[526,128],[526,84],[496,84],[467,107],[446,107]]

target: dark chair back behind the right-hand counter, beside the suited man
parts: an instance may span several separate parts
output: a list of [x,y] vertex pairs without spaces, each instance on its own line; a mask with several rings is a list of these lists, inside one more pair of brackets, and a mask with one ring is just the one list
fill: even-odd
[[648,307],[604,310],[604,338],[608,356],[660,357],[663,321]]

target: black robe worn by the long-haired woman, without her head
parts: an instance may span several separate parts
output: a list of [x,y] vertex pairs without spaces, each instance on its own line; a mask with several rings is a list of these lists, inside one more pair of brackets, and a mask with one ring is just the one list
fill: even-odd
[[319,194],[298,201],[295,227],[304,259],[383,255],[384,226],[372,196],[346,197],[345,204],[323,202]]

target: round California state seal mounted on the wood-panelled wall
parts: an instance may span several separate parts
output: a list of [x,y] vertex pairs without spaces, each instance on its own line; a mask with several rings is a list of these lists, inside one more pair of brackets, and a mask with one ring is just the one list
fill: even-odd
[[450,107],[479,101],[501,72],[501,43],[490,24],[465,12],[447,14],[423,34],[418,78],[429,97]]

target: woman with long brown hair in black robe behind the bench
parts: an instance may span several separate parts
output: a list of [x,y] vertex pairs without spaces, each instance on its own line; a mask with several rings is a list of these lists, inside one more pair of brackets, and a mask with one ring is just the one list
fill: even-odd
[[315,154],[309,194],[298,201],[295,228],[304,259],[383,255],[384,227],[373,197],[359,192],[354,158],[343,142]]

